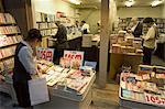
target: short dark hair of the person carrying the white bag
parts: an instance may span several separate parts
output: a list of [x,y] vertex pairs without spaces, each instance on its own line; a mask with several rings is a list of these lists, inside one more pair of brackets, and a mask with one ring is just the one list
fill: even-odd
[[26,36],[26,41],[32,41],[34,39],[37,39],[38,41],[42,41],[42,35],[41,35],[41,32],[40,30],[37,29],[31,29],[29,32],[28,32],[28,36]]

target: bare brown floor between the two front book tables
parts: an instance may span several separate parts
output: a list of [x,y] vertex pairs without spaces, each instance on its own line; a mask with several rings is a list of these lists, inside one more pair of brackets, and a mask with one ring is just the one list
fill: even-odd
[[89,109],[121,109],[118,89],[119,86],[113,84],[107,84],[105,89],[98,89],[94,86],[94,103],[90,105]]

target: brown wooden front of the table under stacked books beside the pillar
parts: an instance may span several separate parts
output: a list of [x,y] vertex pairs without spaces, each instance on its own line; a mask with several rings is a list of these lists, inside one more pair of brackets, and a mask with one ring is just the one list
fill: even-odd
[[129,64],[132,66],[133,72],[138,72],[138,66],[142,63],[141,54],[134,53],[111,53],[110,52],[110,70],[109,78],[114,78],[116,74],[119,72],[123,64]]

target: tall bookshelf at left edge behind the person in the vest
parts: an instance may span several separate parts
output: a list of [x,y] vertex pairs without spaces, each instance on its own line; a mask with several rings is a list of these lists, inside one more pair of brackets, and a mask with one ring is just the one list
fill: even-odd
[[0,13],[0,74],[11,78],[14,67],[14,52],[22,35],[14,18],[9,13]]

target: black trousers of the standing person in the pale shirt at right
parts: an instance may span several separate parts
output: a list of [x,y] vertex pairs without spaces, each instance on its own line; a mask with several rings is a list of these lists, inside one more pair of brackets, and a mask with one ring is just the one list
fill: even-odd
[[143,64],[144,65],[151,65],[151,59],[152,59],[152,52],[154,51],[154,48],[147,48],[145,46],[143,46]]

